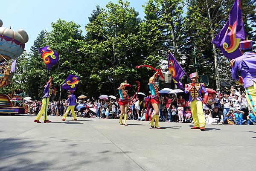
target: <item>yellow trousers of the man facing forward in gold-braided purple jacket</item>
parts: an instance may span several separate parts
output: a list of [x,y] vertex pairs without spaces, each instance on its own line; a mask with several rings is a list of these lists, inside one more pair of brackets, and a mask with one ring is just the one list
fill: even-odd
[[204,111],[202,101],[194,100],[190,102],[191,113],[196,127],[205,127]]

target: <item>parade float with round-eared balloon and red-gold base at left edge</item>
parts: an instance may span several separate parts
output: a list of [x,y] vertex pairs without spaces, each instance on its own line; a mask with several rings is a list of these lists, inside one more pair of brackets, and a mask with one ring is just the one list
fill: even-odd
[[[11,83],[15,71],[15,59],[23,53],[25,43],[29,41],[25,30],[14,31],[2,26],[3,21],[0,20],[0,88]],[[24,113],[21,102],[20,95],[15,93],[0,94],[0,113]]]

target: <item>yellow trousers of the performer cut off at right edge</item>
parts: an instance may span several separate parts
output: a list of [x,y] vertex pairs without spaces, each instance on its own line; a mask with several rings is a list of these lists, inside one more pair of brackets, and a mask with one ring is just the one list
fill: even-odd
[[246,99],[250,105],[253,114],[256,116],[256,82],[252,86],[245,88]]

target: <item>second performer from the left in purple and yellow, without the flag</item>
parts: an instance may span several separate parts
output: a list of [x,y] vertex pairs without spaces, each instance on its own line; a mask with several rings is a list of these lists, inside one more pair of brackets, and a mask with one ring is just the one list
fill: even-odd
[[68,93],[69,93],[69,96],[68,99],[67,99],[67,102],[65,105],[68,104],[68,107],[67,107],[67,110],[66,112],[64,113],[63,115],[63,119],[62,121],[65,121],[66,120],[66,117],[67,117],[67,114],[69,113],[69,111],[71,110],[71,113],[72,113],[72,116],[73,116],[73,119],[72,121],[76,121],[76,113],[75,113],[75,106],[76,106],[76,96],[73,94],[75,90],[68,90]]

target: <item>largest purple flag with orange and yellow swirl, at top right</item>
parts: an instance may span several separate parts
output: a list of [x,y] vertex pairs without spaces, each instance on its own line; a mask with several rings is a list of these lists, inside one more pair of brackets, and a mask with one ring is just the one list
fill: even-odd
[[218,35],[212,40],[227,58],[241,56],[239,42],[246,40],[241,1],[236,0],[229,14],[229,20]]

